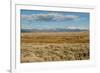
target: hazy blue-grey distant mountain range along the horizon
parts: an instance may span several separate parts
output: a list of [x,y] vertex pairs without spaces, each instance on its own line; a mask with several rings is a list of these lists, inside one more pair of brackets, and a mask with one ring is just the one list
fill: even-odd
[[88,31],[88,29],[21,29],[21,32],[81,32]]

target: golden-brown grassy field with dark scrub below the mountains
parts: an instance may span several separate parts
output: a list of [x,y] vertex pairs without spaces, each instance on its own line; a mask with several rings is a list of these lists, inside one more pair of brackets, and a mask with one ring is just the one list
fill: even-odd
[[89,59],[89,32],[21,33],[21,63]]

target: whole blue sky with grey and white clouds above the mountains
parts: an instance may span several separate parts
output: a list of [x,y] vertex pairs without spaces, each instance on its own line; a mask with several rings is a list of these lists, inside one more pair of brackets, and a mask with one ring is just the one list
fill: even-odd
[[89,13],[21,10],[21,29],[89,29]]

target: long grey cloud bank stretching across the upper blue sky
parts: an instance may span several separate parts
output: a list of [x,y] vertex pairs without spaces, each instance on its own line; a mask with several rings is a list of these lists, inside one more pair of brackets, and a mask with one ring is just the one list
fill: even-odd
[[21,15],[21,20],[25,21],[71,21],[78,19],[77,15],[64,15],[62,13],[31,14]]

